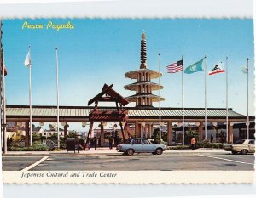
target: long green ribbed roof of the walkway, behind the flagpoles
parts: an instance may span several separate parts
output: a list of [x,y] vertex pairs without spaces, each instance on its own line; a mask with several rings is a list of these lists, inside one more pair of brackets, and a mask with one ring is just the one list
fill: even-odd
[[[128,110],[129,120],[154,120],[159,119],[159,109],[155,107],[140,108],[140,107],[124,107]],[[83,122],[89,119],[91,106],[60,106],[60,122]],[[98,107],[98,110],[116,110],[116,107]],[[7,122],[29,121],[30,110],[28,105],[7,105],[6,116]],[[32,122],[52,122],[56,120],[57,108],[56,106],[32,106]],[[161,118],[163,120],[180,120],[183,116],[182,108],[161,108]],[[185,120],[204,120],[204,108],[185,108]],[[246,121],[247,116],[241,115],[236,111],[229,109],[228,116],[230,121]],[[207,120],[222,120],[225,122],[226,109],[225,108],[208,108]],[[250,116],[250,120],[254,120],[255,116]]]

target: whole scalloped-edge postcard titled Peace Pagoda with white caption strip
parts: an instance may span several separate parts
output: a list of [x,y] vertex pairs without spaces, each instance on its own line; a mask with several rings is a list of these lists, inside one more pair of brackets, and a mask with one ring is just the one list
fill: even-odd
[[253,184],[253,19],[0,28],[4,184]]

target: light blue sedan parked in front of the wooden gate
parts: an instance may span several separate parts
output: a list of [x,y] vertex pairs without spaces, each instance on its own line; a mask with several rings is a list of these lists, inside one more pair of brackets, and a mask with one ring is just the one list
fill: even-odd
[[116,150],[131,156],[134,153],[161,155],[167,149],[164,144],[153,144],[148,139],[131,139],[129,144],[119,144]]

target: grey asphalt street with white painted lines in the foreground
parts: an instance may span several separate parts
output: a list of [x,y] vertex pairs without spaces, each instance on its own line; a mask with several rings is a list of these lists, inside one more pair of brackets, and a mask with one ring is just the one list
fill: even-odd
[[253,155],[230,153],[3,156],[3,171],[253,171],[253,166]]

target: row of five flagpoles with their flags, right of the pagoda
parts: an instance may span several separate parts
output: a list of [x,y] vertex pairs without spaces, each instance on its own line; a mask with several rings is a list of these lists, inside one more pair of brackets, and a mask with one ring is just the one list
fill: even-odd
[[[160,54],[159,54],[160,55]],[[204,69],[203,69],[204,63]],[[199,71],[205,71],[205,140],[207,140],[207,56],[203,59],[197,61],[195,64],[189,65],[185,70],[183,70],[183,56],[182,59],[166,66],[167,73],[177,73],[182,71],[182,111],[183,111],[183,145],[184,145],[184,82],[183,82],[183,73],[193,74]],[[248,68],[249,68],[249,59],[247,59],[247,67],[242,67],[241,71],[247,74],[247,139],[249,139],[249,113],[248,113]],[[160,72],[160,60],[159,60],[159,72]],[[225,59],[225,70],[223,62],[218,62],[214,68],[208,72],[208,75],[215,75],[218,73],[226,73],[226,141],[228,142],[228,131],[229,131],[229,90],[228,90],[228,57]],[[160,84],[160,80],[159,80]],[[160,94],[160,93],[159,93]],[[160,101],[160,99],[159,99]],[[160,105],[159,105],[160,106]],[[161,130],[160,130],[161,133]]]

